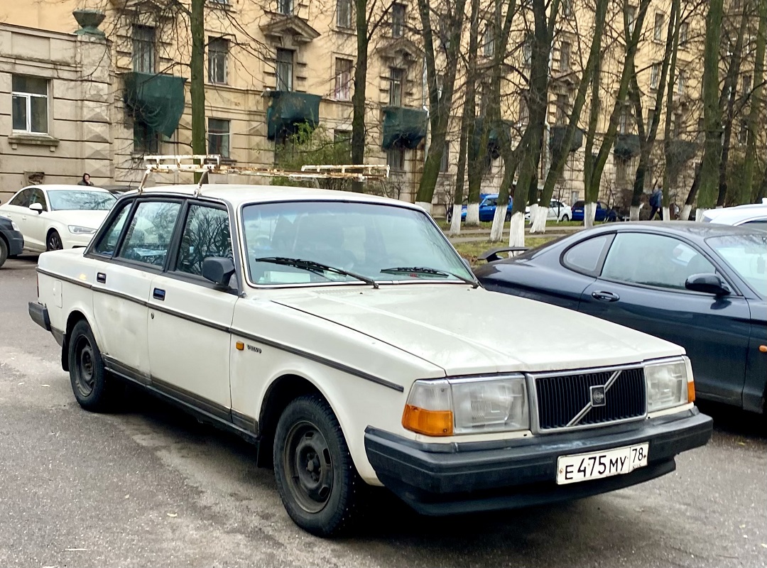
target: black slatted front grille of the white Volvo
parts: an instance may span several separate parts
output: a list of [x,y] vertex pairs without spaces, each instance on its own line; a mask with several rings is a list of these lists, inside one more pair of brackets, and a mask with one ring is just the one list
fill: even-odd
[[[614,370],[535,377],[538,426],[565,428],[591,401],[591,386],[607,383]],[[616,422],[643,416],[647,409],[644,369],[622,369],[605,393],[604,406],[590,409],[578,426]]]

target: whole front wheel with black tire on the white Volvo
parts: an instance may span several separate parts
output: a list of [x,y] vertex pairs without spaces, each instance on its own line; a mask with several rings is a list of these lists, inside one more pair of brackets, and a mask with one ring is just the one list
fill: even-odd
[[361,511],[367,487],[328,402],[301,396],[282,412],[275,432],[277,489],[291,519],[318,537],[343,534]]

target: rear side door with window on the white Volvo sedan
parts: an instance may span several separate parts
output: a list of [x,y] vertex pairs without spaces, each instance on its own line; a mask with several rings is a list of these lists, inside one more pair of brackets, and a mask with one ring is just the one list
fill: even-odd
[[107,363],[140,382],[150,381],[147,304],[163,270],[179,200],[135,199],[117,205],[89,251],[100,258],[93,285],[94,318]]

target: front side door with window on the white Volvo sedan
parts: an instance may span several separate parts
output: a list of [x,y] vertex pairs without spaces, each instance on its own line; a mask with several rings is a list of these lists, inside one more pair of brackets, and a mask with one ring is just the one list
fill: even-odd
[[236,286],[224,291],[202,277],[202,261],[232,257],[224,205],[189,201],[179,245],[149,298],[149,357],[153,386],[229,420],[229,357]]

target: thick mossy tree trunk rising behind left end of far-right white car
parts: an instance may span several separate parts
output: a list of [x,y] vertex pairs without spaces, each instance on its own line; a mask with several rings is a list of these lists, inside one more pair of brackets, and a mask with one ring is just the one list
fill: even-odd
[[723,0],[709,0],[706,44],[703,48],[703,120],[706,145],[700,172],[698,203],[710,207],[716,196],[722,159],[722,114],[719,109],[719,42],[722,36]]

